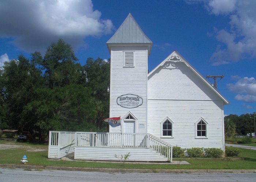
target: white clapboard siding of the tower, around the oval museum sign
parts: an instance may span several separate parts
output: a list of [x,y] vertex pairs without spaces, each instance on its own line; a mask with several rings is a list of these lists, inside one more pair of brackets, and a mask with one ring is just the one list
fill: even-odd
[[[124,52],[133,51],[134,67],[124,67]],[[136,108],[124,108],[117,104],[117,98],[125,94],[138,95],[143,104]],[[146,126],[147,120],[147,50],[143,47],[113,47],[111,51],[110,75],[110,117],[123,118],[131,112],[136,118],[136,132],[146,133],[145,128],[138,128],[138,124]],[[110,126],[110,132],[120,132],[121,127]]]

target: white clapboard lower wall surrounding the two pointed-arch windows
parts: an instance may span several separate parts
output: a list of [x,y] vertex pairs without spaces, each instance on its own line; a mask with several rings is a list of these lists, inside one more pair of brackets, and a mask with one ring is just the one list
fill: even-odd
[[[148,133],[173,146],[223,149],[223,102],[211,100],[148,99]],[[161,122],[168,117],[173,122],[172,138],[161,137]],[[203,118],[207,123],[207,138],[196,138],[195,123]]]

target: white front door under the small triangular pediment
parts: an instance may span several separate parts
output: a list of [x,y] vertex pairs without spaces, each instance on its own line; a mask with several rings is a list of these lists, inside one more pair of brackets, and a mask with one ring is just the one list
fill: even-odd
[[134,146],[135,121],[124,121],[124,145]]

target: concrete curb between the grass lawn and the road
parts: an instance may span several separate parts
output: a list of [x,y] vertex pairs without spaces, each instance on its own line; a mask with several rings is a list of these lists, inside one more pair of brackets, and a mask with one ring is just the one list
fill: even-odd
[[110,168],[87,168],[87,167],[60,167],[60,166],[31,166],[0,164],[1,168],[21,168],[21,169],[45,169],[64,171],[98,171],[107,173],[256,173],[256,169],[110,169]]

